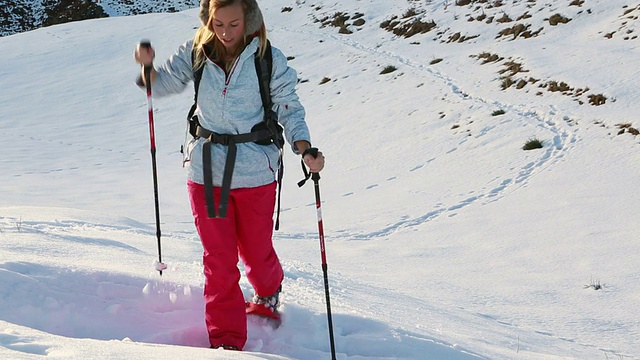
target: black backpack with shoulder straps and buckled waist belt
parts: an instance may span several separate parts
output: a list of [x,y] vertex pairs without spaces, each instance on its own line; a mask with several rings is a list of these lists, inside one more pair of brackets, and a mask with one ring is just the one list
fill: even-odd
[[[282,176],[284,173],[283,162],[283,146],[284,136],[283,128],[278,123],[278,115],[273,111],[273,102],[271,101],[270,83],[271,83],[271,71],[272,71],[272,52],[271,43],[267,41],[267,47],[264,57],[260,57],[258,50],[254,54],[256,74],[258,75],[258,83],[260,86],[260,96],[262,98],[262,106],[264,108],[263,120],[253,126],[251,132],[246,134],[217,134],[204,129],[200,126],[198,116],[195,115],[198,101],[198,88],[200,87],[200,80],[202,78],[202,72],[204,65],[200,66],[194,71],[194,97],[193,105],[187,114],[187,129],[189,134],[194,139],[200,137],[206,138],[203,143],[203,170],[204,170],[204,182],[205,182],[205,198],[207,203],[207,212],[210,218],[225,217],[228,206],[229,192],[231,188],[231,177],[233,174],[233,168],[235,165],[236,156],[236,144],[243,142],[254,142],[259,145],[275,145],[280,152],[280,166],[278,169],[278,210],[275,222],[275,229],[280,228],[280,193],[282,190]],[[195,49],[191,52],[191,64],[192,68],[195,67]],[[222,191],[220,194],[220,204],[218,209],[215,207],[214,195],[213,195],[213,180],[211,169],[211,143],[224,144],[229,147],[227,152],[227,159],[224,167],[224,175],[222,180]],[[183,152],[183,148],[180,152]]]

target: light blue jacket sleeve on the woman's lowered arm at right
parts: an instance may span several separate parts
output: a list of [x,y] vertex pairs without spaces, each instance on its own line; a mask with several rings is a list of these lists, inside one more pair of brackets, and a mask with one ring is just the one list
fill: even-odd
[[298,94],[296,85],[298,74],[287,65],[287,58],[275,47],[272,49],[271,70],[271,99],[274,111],[278,114],[278,121],[284,127],[287,142],[294,153],[299,154],[294,142],[306,140],[311,143],[309,128],[305,121],[305,110]]

